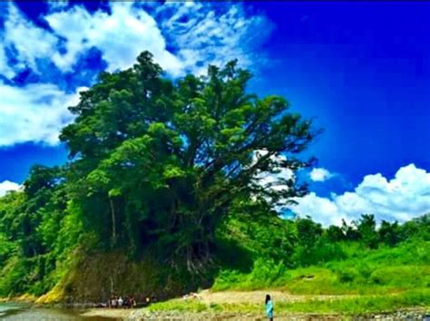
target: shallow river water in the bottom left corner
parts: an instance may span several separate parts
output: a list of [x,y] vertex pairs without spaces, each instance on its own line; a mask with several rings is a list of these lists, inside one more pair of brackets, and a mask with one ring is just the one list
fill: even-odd
[[21,303],[0,303],[0,320],[7,321],[112,321],[105,317],[83,317],[79,309],[33,307]]

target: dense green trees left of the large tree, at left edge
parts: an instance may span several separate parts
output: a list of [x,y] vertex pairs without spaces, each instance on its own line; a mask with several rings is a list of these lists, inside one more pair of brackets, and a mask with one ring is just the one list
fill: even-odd
[[34,166],[24,191],[0,199],[0,296],[44,294],[85,244],[79,209],[66,195],[62,170]]

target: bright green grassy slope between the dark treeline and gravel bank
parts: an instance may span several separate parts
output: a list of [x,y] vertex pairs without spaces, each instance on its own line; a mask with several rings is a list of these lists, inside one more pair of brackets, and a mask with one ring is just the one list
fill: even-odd
[[307,268],[288,269],[259,258],[249,273],[220,271],[212,290],[278,288],[300,295],[390,294],[430,287],[430,242],[396,248],[363,249],[343,245],[347,258]]

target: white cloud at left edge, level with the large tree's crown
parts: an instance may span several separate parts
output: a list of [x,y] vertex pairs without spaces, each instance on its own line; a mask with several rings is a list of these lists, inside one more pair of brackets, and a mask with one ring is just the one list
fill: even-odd
[[66,94],[54,84],[0,83],[0,92],[0,146],[25,141],[56,144],[59,131],[72,121],[67,107],[78,102],[77,94]]

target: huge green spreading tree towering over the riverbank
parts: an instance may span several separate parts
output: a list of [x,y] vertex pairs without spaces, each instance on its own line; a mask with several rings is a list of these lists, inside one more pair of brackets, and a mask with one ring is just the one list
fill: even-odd
[[247,92],[250,78],[233,61],[172,81],[148,52],[101,74],[61,134],[85,227],[106,247],[160,250],[198,270],[232,204],[303,195],[294,178],[275,175],[284,187],[272,188],[264,175],[308,166],[297,155],[317,132],[284,98]]

